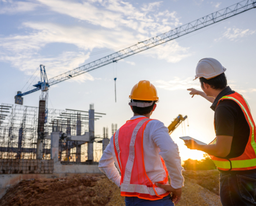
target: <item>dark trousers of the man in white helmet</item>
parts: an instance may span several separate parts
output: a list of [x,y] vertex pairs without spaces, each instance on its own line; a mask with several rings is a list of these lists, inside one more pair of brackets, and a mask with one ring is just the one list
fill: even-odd
[[227,205],[256,205],[256,174],[235,175],[220,171],[220,201]]

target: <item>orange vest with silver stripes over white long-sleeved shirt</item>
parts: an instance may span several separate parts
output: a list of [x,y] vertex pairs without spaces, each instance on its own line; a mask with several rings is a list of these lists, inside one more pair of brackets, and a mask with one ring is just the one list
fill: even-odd
[[[121,171],[121,196],[139,197],[147,200],[158,200],[170,194],[157,187],[147,176],[143,154],[143,134],[148,122],[152,119],[140,117],[129,120],[118,129],[111,147],[117,167]],[[168,171],[161,157],[166,176],[160,184],[168,183]]]

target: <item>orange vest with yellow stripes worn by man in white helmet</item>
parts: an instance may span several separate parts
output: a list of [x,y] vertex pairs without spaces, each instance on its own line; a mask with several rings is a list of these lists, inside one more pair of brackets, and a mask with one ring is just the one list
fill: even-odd
[[[244,105],[238,100],[238,99],[236,99],[235,97],[232,97],[232,96],[237,96],[237,95],[239,95],[238,96],[238,98],[241,98],[241,100],[243,101],[245,101],[245,106],[247,106],[248,107],[248,109],[249,109],[249,112],[250,112],[250,107],[249,107],[249,105],[248,105],[248,103],[247,103],[247,101],[245,100],[245,98],[242,96],[242,95],[240,95],[240,94],[238,94],[238,93],[234,93],[234,94],[232,94],[232,95],[227,95],[227,96],[223,96],[220,100],[223,100],[223,99],[231,99],[231,100],[234,100],[239,106],[240,106],[240,108],[243,110],[243,112],[244,112],[244,114],[246,115],[246,117],[247,117],[247,119],[248,119],[248,124],[249,124],[249,126],[250,126],[250,136],[249,136],[249,140],[250,140],[250,138],[251,138],[251,142],[250,142],[250,144],[247,144],[246,145],[246,148],[245,148],[245,152],[247,152],[246,150],[248,150],[248,146],[251,146],[252,147],[252,149],[254,150],[254,154],[253,154],[253,157],[254,158],[251,158],[251,159],[244,159],[244,160],[237,160],[238,158],[240,159],[240,157],[242,157],[243,155],[244,155],[244,153],[241,155],[241,156],[239,156],[239,157],[237,157],[237,158],[232,158],[231,160],[230,160],[230,162],[231,162],[231,165],[232,165],[232,170],[244,170],[244,169],[253,169],[255,166],[256,166],[256,143],[255,143],[255,140],[254,140],[254,129],[255,129],[255,125],[254,125],[254,123],[252,122],[252,119],[250,118],[250,116],[251,116],[251,114],[249,115],[248,114],[248,112],[247,112],[247,110],[246,110],[246,108],[244,107]],[[219,101],[220,101],[219,100]],[[248,140],[248,141],[249,141]],[[216,139],[212,142],[212,143],[210,143],[210,144],[216,144]],[[227,160],[227,159],[221,159],[221,158],[216,158],[216,157],[214,157],[214,156],[210,156],[212,159],[213,159],[213,161],[214,161],[214,163],[215,163],[215,165],[219,168],[219,169],[230,169],[230,162],[229,162],[229,160]],[[216,160],[216,159],[218,159],[218,160]],[[243,169],[244,168],[244,169]]]

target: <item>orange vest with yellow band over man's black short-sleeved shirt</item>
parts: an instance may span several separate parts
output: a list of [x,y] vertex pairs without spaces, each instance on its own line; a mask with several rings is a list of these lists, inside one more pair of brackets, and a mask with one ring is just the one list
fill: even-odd
[[[251,115],[251,111],[249,108],[249,105],[247,101],[244,99],[244,97],[237,92],[234,94],[223,96],[220,100],[225,99],[231,99],[235,101],[239,107],[244,112],[246,121],[248,122],[248,125],[250,127],[250,136],[248,143],[246,145],[244,153],[236,158],[231,159],[223,159],[218,158],[215,156],[210,155],[210,158],[214,161],[215,165],[220,170],[249,170],[249,169],[256,169],[256,143],[255,143],[255,124]],[[218,104],[219,104],[218,102]],[[218,105],[217,105],[218,106]],[[216,107],[217,108],[217,107]],[[215,124],[214,124],[215,127]],[[215,129],[216,130],[216,129]],[[210,144],[216,144],[216,138],[215,140]]]

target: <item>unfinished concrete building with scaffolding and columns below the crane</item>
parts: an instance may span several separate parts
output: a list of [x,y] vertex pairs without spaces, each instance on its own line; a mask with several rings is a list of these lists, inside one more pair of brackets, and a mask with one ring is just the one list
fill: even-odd
[[97,165],[109,144],[108,134],[96,136],[94,122],[103,113],[0,105],[0,173],[53,173],[54,163]]

